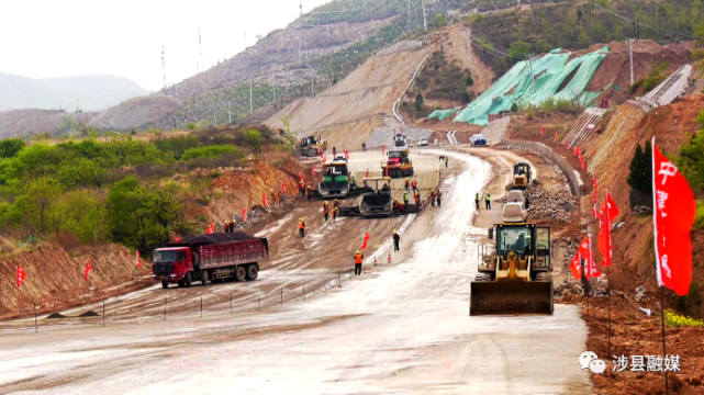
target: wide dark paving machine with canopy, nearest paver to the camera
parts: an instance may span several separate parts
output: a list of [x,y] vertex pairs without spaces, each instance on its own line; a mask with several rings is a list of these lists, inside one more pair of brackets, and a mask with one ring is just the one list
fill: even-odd
[[394,201],[391,198],[391,179],[388,177],[366,178],[360,190],[365,192],[361,202],[355,206],[340,206],[339,216],[389,217],[417,213],[422,208],[422,205],[404,205]]

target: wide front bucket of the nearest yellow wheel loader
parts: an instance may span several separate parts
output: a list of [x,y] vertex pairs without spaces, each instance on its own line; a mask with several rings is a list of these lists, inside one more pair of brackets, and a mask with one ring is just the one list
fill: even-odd
[[552,280],[472,281],[469,315],[552,314]]

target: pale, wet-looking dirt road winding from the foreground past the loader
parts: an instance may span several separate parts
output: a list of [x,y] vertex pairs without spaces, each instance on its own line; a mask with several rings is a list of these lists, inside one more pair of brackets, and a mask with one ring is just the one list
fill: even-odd
[[444,177],[443,207],[409,227],[400,263],[261,313],[7,331],[0,393],[590,393],[576,306],[468,316],[485,234],[471,225],[472,200],[492,172],[449,155],[457,169]]

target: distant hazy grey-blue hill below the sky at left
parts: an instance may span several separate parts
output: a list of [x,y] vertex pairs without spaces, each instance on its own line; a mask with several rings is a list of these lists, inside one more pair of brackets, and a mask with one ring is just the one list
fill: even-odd
[[104,110],[146,94],[136,82],[116,76],[86,75],[34,79],[0,72],[0,111],[19,109]]

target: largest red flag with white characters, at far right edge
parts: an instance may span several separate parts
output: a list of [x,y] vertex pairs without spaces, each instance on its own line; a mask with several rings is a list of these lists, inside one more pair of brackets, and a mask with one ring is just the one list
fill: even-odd
[[696,202],[678,168],[664,157],[652,138],[652,225],[658,284],[678,295],[690,293],[692,283],[692,225]]

